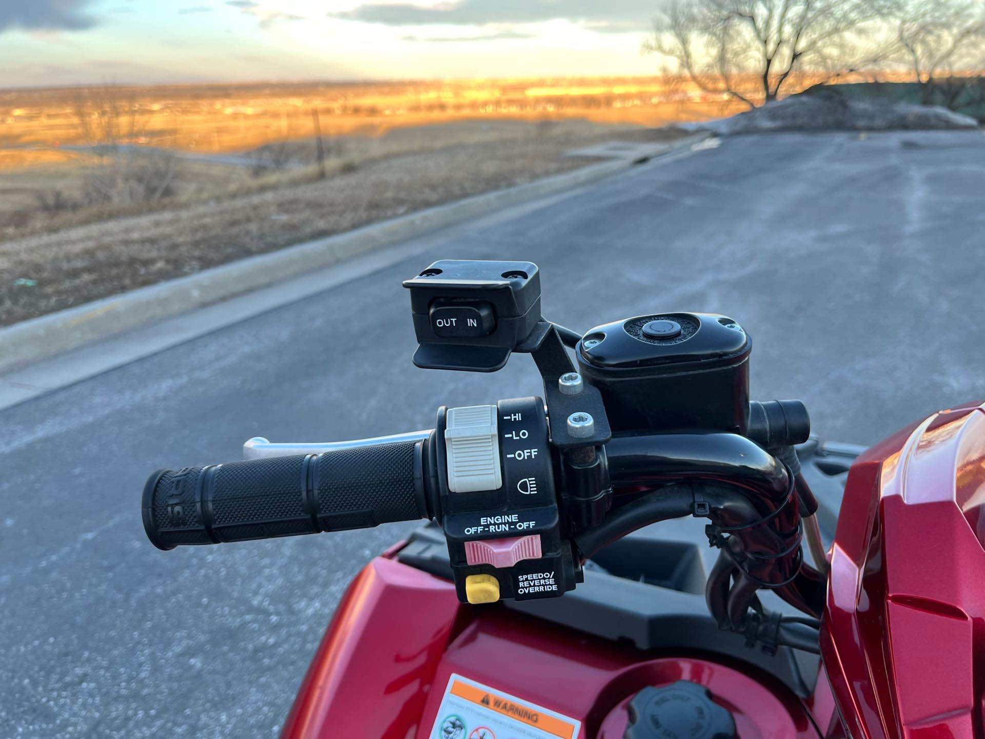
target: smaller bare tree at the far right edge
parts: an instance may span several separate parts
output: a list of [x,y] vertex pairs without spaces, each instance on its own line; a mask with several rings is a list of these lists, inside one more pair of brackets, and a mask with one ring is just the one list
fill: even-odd
[[[985,2],[932,0],[900,5],[900,60],[920,85],[920,101],[957,109],[985,101]],[[963,73],[960,77],[955,73]]]

